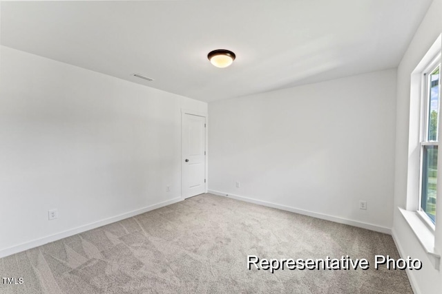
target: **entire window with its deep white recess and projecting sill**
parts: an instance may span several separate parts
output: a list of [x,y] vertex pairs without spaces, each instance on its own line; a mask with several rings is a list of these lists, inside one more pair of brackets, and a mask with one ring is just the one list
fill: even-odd
[[[436,250],[435,239],[436,233],[442,229],[439,223],[442,218],[442,193],[437,200],[439,216],[436,216],[438,182],[439,191],[442,191],[442,161],[439,162],[439,174],[437,167],[439,140],[442,141],[442,118],[439,115],[442,110],[441,52],[442,34],[439,34],[410,74],[407,194],[405,207],[398,207],[438,271],[441,254]],[[436,218],[439,218],[437,224]]]

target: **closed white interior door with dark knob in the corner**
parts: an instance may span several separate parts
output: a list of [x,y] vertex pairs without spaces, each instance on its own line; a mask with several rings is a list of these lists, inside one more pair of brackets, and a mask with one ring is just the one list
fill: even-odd
[[206,118],[183,114],[182,118],[182,197],[206,191]]

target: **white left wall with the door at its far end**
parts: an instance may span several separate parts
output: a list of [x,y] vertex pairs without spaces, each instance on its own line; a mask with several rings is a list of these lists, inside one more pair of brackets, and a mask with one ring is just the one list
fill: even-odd
[[7,47],[0,62],[0,256],[180,200],[181,108],[206,103]]

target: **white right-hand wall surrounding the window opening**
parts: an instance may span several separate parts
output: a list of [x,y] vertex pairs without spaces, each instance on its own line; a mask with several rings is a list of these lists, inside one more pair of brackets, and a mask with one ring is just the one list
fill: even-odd
[[[403,256],[423,261],[423,269],[410,271],[409,277],[417,293],[441,293],[442,272],[436,271],[407,222],[396,209],[405,208],[407,200],[408,131],[410,124],[410,74],[442,32],[442,0],[433,0],[425,18],[398,66],[396,101],[396,174],[394,186],[394,226],[396,243]],[[416,196],[417,197],[417,196]],[[438,207],[437,214],[441,207]],[[436,249],[442,253],[442,227],[436,227]]]

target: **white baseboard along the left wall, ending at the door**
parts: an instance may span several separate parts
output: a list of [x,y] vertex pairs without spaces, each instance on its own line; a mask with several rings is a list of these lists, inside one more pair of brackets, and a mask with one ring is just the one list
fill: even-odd
[[39,239],[36,239],[36,240],[32,240],[32,241],[25,242],[25,243],[21,243],[21,244],[18,244],[18,245],[15,245],[15,246],[12,246],[12,247],[9,247],[9,248],[6,248],[6,249],[1,249],[0,250],[0,258],[4,258],[4,257],[6,257],[8,255],[19,253],[21,251],[25,251],[25,250],[28,250],[28,249],[31,249],[31,248],[35,248],[37,246],[41,246],[41,245],[44,245],[44,244],[47,244],[47,243],[50,243],[50,242],[54,242],[54,241],[57,241],[57,240],[60,240],[60,239],[66,238],[66,237],[70,237],[71,235],[75,235],[77,233],[83,233],[84,231],[88,231],[88,230],[91,230],[91,229],[96,229],[96,228],[102,227],[102,226],[104,226],[106,224],[111,224],[113,222],[118,222],[119,220],[124,220],[125,218],[131,218],[133,216],[137,216],[138,214],[145,213],[145,212],[151,211],[153,209],[158,209],[160,207],[164,207],[166,205],[170,205],[170,204],[173,204],[173,203],[176,203],[176,202],[180,202],[182,200],[183,199],[181,197],[174,198],[172,200],[167,200],[167,201],[160,202],[160,203],[157,203],[157,204],[149,205],[148,207],[144,207],[142,209],[137,209],[137,210],[134,210],[134,211],[129,211],[127,213],[120,214],[119,216],[113,216],[111,218],[105,218],[104,220],[99,220],[97,222],[92,222],[90,224],[85,224],[84,226],[81,226],[81,227],[77,227],[77,228],[74,228],[74,229],[69,229],[67,231],[62,231],[60,233],[55,233],[53,235],[48,235],[46,237],[39,238]]

